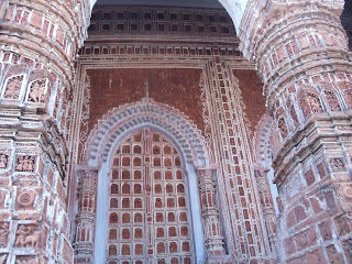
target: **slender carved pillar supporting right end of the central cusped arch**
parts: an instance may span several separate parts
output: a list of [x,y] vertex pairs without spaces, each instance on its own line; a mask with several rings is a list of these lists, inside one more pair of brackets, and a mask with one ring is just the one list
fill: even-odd
[[220,231],[219,211],[216,201],[216,184],[212,169],[198,169],[201,213],[208,257],[224,255],[223,238]]

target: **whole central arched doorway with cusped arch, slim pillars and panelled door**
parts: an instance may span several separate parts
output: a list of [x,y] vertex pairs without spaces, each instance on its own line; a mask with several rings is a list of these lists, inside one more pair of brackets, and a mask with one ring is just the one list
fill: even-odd
[[[157,144],[153,143],[153,139],[152,139],[152,140],[148,140],[150,142],[152,142],[151,143],[152,146],[150,146],[147,155],[144,155],[145,146],[144,144],[142,144],[143,136],[141,135],[141,140],[139,140],[141,141],[140,143],[138,143],[138,141],[133,138],[135,134],[139,134],[142,131],[152,131],[150,133],[157,134],[160,139],[163,139],[163,141],[160,140],[160,145],[158,145],[160,150],[158,151],[154,150],[156,153],[160,152],[160,154],[155,154],[155,152],[153,153],[153,144],[154,145],[157,145]],[[127,143],[127,141],[129,140],[132,140],[132,143],[131,142]],[[130,154],[128,153],[125,154],[127,154],[127,157],[130,155],[130,160],[129,161],[127,160],[124,161],[125,163],[123,163],[123,157],[120,156],[119,163],[114,163],[114,156],[124,154],[123,146],[125,145],[128,147],[129,144],[130,144],[129,146]],[[136,147],[136,150],[134,150],[134,146],[136,145],[139,145],[140,148]],[[167,146],[166,148],[169,148],[169,150],[166,150],[165,152],[164,146]],[[119,150],[120,150],[120,153],[119,153]],[[131,160],[131,157],[134,157],[134,154],[133,154],[134,151],[136,152],[135,161]],[[170,154],[167,154],[167,153],[170,153]],[[164,156],[164,154],[166,156]],[[154,164],[154,161],[151,160],[153,155],[156,155],[156,156],[160,155],[157,156],[157,158],[160,160],[155,161],[156,164]],[[173,186],[172,186],[173,194],[176,196],[174,198],[177,198],[177,200],[174,199],[174,209],[172,207],[169,207],[168,209],[167,198],[173,198],[173,195],[170,196],[168,195],[166,183],[163,183],[164,185],[162,186],[164,188],[164,191],[162,191],[161,194],[157,194],[160,195],[160,197],[151,195],[148,198],[151,201],[153,201],[152,206],[150,206],[151,208],[154,208],[156,207],[156,205],[160,204],[160,201],[156,200],[156,198],[162,198],[162,197],[164,198],[164,200],[162,199],[162,207],[164,208],[166,207],[166,209],[160,209],[160,211],[162,212],[164,210],[164,215],[163,215],[164,221],[161,222],[161,226],[164,224],[165,240],[161,238],[158,240],[160,242],[157,242],[157,243],[164,243],[164,246],[163,244],[160,244],[160,249],[161,249],[160,254],[163,254],[162,251],[163,251],[163,248],[165,248],[165,255],[166,255],[166,252],[167,254],[169,254],[169,252],[173,251],[175,252],[174,256],[176,258],[178,257],[177,262],[176,260],[174,260],[173,262],[173,257],[172,257],[173,255],[169,255],[169,257],[165,260],[165,263],[204,264],[206,263],[207,258],[212,256],[217,257],[219,254],[223,254],[224,253],[223,237],[220,230],[220,219],[219,219],[217,201],[216,201],[216,183],[213,179],[216,169],[211,161],[209,160],[209,153],[205,144],[205,141],[202,136],[198,133],[194,124],[188,121],[187,117],[182,114],[179,111],[175,111],[175,109],[173,108],[169,108],[162,103],[157,103],[146,98],[138,103],[125,105],[123,107],[120,107],[119,109],[113,109],[109,111],[106,114],[103,121],[101,121],[99,125],[97,125],[95,130],[91,131],[90,133],[89,140],[87,142],[87,151],[85,152],[85,162],[87,165],[80,166],[79,169],[77,170],[78,179],[79,179],[78,200],[79,200],[79,205],[82,205],[85,197],[90,197],[91,200],[96,201],[96,204],[92,204],[89,208],[84,208],[81,206],[78,206],[77,233],[79,234],[81,233],[81,230],[86,230],[85,232],[89,233],[89,238],[81,239],[79,235],[76,237],[76,242],[75,242],[75,248],[77,249],[76,258],[85,260],[87,263],[88,262],[92,262],[96,264],[109,263],[110,255],[118,256],[122,252],[122,246],[124,243],[123,241],[129,240],[129,239],[122,239],[123,240],[122,242],[118,241],[118,235],[120,235],[119,239],[122,238],[123,230],[120,229],[120,226],[119,226],[119,230],[118,230],[118,227],[110,228],[109,226],[110,224],[109,223],[110,191],[111,191],[111,193],[114,193],[114,195],[117,195],[117,198],[120,199],[120,200],[118,199],[117,201],[111,201],[111,204],[113,202],[114,205],[117,204],[118,209],[119,209],[119,206],[122,208],[120,215],[118,210],[111,211],[116,213],[114,216],[112,216],[112,219],[114,219],[112,220],[112,222],[118,226],[119,224],[118,221],[119,219],[121,219],[120,217],[123,218],[122,216],[123,213],[129,212],[130,215],[130,226],[129,226],[130,248],[128,249],[128,246],[124,246],[124,252],[127,253],[125,256],[128,260],[123,260],[123,261],[130,261],[129,263],[141,263],[141,262],[136,262],[139,260],[131,260],[131,256],[132,254],[134,255],[135,250],[141,252],[141,248],[139,248],[140,245],[138,246],[139,249],[135,249],[135,244],[132,245],[132,243],[134,243],[132,242],[132,238],[134,235],[133,232],[135,231],[135,229],[131,223],[132,223],[132,217],[134,221],[134,215],[136,212],[134,213],[133,211],[134,208],[131,208],[131,205],[132,202],[133,202],[133,206],[136,205],[138,207],[136,209],[140,210],[139,213],[142,215],[143,212],[145,215],[145,211],[144,211],[145,207],[143,205],[145,205],[146,193],[148,190],[146,188],[147,187],[146,183],[142,180],[142,173],[143,173],[142,168],[144,169],[145,167],[143,166],[142,158],[144,158],[144,164],[146,163],[145,162],[146,158],[148,158],[150,163],[153,162],[153,165],[146,166],[146,167],[150,167],[151,172],[154,172],[154,170],[156,172],[157,169],[161,172],[161,176],[156,175],[156,182],[160,180],[160,184],[163,180],[164,182],[167,180],[167,184],[173,183]],[[157,162],[160,162],[160,167]],[[134,166],[136,168],[133,168]],[[164,168],[162,168],[162,166]],[[119,180],[119,177],[117,177],[117,183],[111,182],[113,179],[114,168],[117,168],[117,170],[120,170],[119,174],[121,174],[121,179]],[[129,173],[130,179],[122,178],[123,170],[130,172]],[[141,176],[136,175],[136,180],[140,180],[140,183],[133,183],[134,170],[140,170]],[[177,173],[179,170],[182,172],[180,176],[179,176],[179,173]],[[172,173],[170,175],[169,175],[169,172]],[[110,178],[109,178],[109,174],[111,174]],[[144,175],[146,174],[144,173]],[[173,177],[173,180],[170,179],[170,177]],[[123,185],[125,184],[125,182],[129,182],[129,180],[132,180],[131,183],[128,183],[130,185],[129,189],[130,189],[131,196],[129,196],[129,194],[122,194]],[[153,180],[155,180],[154,174],[153,174]],[[112,186],[113,184],[116,184],[117,186]],[[134,197],[134,194],[133,194],[135,191],[134,184],[140,185],[141,191],[142,191],[142,194],[138,194],[136,197]],[[182,184],[183,186],[179,186],[179,184]],[[136,190],[140,187],[136,186]],[[153,193],[155,191],[154,187],[155,186],[152,186],[150,183],[151,194],[152,191]],[[183,187],[184,187],[184,193],[182,193]],[[125,187],[125,193],[128,193],[127,187]],[[140,193],[140,191],[138,190],[136,193]],[[125,197],[122,197],[122,196],[119,197],[119,194],[125,195]],[[123,198],[130,198],[130,200],[124,201],[124,202],[130,202],[129,204],[130,208],[123,208],[124,207]],[[178,200],[178,198],[180,199]],[[142,208],[140,208],[141,201],[142,201]],[[164,206],[163,206],[163,202],[164,202]],[[169,202],[172,202],[172,200]],[[177,207],[182,209],[176,210],[175,208]],[[165,215],[165,210],[167,215]],[[170,216],[168,216],[168,212],[174,212],[174,213],[170,213]],[[177,217],[178,219],[179,217],[182,217],[182,219],[186,219],[184,216],[180,216],[180,212],[187,212],[186,213],[187,220],[185,221],[177,220],[178,222],[175,221],[170,223],[166,222],[168,221],[168,217],[173,218],[173,215],[175,217],[175,220]],[[154,218],[156,219],[156,215],[152,216],[152,221]],[[143,216],[142,216],[142,220],[143,220]],[[141,224],[141,227],[143,226],[143,229],[144,229],[145,224],[143,223],[143,221],[139,223]],[[89,228],[87,228],[88,226]],[[125,227],[128,227],[128,223]],[[188,238],[187,238],[187,229],[183,227],[186,227],[188,229]],[[155,232],[157,232],[155,227],[152,227],[152,228],[153,230],[155,230]],[[169,239],[168,232],[175,231],[175,229],[173,228],[176,229],[176,237],[182,233],[186,235],[184,237],[182,235],[182,239],[177,239],[176,237],[172,237],[172,239]],[[113,241],[112,240],[110,241],[109,239],[110,229],[116,229],[116,231],[112,231],[114,232],[113,235],[116,238],[114,239],[112,237]],[[142,232],[143,232],[143,229],[142,229]],[[140,230],[138,230],[138,232],[140,233]],[[154,234],[155,237],[155,233],[153,232],[151,232],[151,234]],[[92,233],[94,235],[91,235]],[[127,233],[128,232],[125,232],[125,234]],[[125,238],[128,238],[128,235]],[[167,238],[167,241],[166,241],[166,238]],[[156,239],[157,238],[155,238],[155,241]],[[175,243],[170,244],[169,242],[176,242],[176,244]],[[140,243],[140,242],[136,242],[136,243]],[[151,253],[151,257],[154,257],[155,261],[152,258],[151,263],[158,263],[158,261],[156,261],[157,260],[156,256],[158,255],[154,255],[154,252],[157,252],[157,245],[158,245],[157,243],[154,243],[153,253]],[[110,244],[112,246],[110,249],[111,252],[109,255]],[[143,242],[143,246],[144,246],[144,242]],[[143,246],[142,246],[142,253],[144,254],[144,256],[143,255],[142,256],[145,257],[145,254],[147,253],[146,251],[147,248],[143,248]],[[182,254],[177,253],[179,251],[182,252]],[[190,257],[190,258],[185,258],[185,257]],[[163,258],[163,256],[161,256],[161,258]],[[116,263],[123,263],[118,258],[114,260],[113,257],[111,258],[111,261]],[[142,258],[142,263],[150,263],[150,262],[143,262],[143,261],[145,260]],[[161,260],[160,263],[164,263],[163,260]]]

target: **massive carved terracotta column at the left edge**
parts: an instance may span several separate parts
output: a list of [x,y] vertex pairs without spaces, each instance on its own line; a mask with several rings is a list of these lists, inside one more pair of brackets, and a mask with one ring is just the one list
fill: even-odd
[[0,260],[72,263],[66,105],[87,2],[0,3]]

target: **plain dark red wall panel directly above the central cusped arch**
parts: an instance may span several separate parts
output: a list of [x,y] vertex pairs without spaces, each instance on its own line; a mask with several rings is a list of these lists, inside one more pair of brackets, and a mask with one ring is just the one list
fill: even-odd
[[91,81],[89,130],[112,108],[142,100],[147,80],[150,98],[184,112],[204,131],[201,69],[90,69],[87,74]]

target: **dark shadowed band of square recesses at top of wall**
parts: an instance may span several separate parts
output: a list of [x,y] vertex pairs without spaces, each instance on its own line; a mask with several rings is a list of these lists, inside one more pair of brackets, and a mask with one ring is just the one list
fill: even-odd
[[95,35],[167,35],[185,37],[205,35],[231,37],[235,34],[229,14],[224,10],[175,9],[175,8],[130,8],[112,6],[106,9],[96,6],[88,29]]

